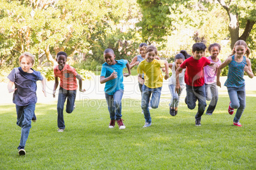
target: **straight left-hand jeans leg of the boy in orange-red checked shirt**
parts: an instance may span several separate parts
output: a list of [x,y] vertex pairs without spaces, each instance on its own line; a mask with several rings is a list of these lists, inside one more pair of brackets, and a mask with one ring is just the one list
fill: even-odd
[[63,110],[64,110],[64,103],[67,98],[67,91],[63,90],[63,88],[59,88],[59,96],[58,96],[58,103],[57,103],[57,112],[58,112],[58,127],[60,129],[65,129],[65,122],[64,122],[64,116],[63,116]]

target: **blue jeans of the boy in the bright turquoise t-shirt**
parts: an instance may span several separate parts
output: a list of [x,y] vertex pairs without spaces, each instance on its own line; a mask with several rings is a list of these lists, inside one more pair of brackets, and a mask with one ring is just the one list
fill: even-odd
[[124,95],[123,89],[118,89],[114,95],[105,93],[106,101],[108,104],[108,111],[110,112],[111,120],[119,120],[122,117],[122,97]]

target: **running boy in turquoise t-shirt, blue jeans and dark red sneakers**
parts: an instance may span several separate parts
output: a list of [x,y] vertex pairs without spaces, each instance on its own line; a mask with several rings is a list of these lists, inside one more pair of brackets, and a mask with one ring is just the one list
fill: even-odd
[[[106,82],[104,91],[108,111],[110,112],[110,125],[108,128],[114,128],[117,121],[119,129],[125,129],[122,118],[122,96],[124,95],[124,76],[131,75],[131,69],[127,60],[115,60],[113,49],[107,48],[104,53],[103,67],[101,69],[101,84]],[[123,69],[127,67],[128,74],[123,75]]]

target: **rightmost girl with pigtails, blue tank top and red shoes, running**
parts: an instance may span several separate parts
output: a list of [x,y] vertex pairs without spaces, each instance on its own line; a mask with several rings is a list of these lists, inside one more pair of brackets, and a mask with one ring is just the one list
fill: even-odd
[[250,55],[250,49],[247,47],[246,42],[243,40],[236,41],[232,55],[218,67],[217,71],[217,86],[221,87],[221,69],[229,65],[229,73],[224,86],[227,86],[231,100],[228,108],[229,114],[232,115],[234,113],[234,108],[238,109],[233,121],[235,126],[241,126],[239,120],[245,110],[245,79],[243,79],[243,75],[246,72],[248,77],[253,78],[252,64],[250,59],[244,56],[245,54],[247,57]]

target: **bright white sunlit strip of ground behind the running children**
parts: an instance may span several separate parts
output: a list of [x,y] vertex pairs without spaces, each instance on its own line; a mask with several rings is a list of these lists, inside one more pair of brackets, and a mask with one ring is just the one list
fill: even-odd
[[[227,79],[226,76],[220,77],[220,82],[222,83],[222,88],[219,88],[219,94],[220,95],[228,95],[227,94],[227,88],[224,86],[224,82]],[[250,79],[248,76],[245,76],[245,82],[246,91],[256,91],[256,78]],[[46,82],[46,93],[47,97],[43,95],[43,92],[41,91],[41,82],[38,82],[38,103],[52,103],[57,101],[56,98],[53,98],[52,96],[52,89],[53,89],[53,81]],[[104,95],[104,86],[105,84],[99,83],[99,75],[94,75],[92,77],[92,80],[86,80],[83,81],[83,88],[86,89],[85,93],[81,93],[77,91],[76,95],[76,102],[87,102],[91,99],[105,99]],[[141,93],[139,91],[138,86],[138,76],[129,76],[124,77],[124,96],[123,99],[138,99],[141,100]],[[7,90],[7,83],[1,82],[0,83],[0,104],[10,104],[12,103],[12,96],[13,93],[8,93]],[[183,90],[181,94],[181,100],[185,98],[186,91]],[[256,96],[255,94],[247,94],[246,96]],[[161,99],[170,100],[171,94],[168,88],[168,81],[164,80],[163,86],[162,86],[162,93],[161,93]]]

